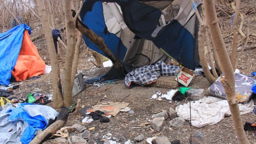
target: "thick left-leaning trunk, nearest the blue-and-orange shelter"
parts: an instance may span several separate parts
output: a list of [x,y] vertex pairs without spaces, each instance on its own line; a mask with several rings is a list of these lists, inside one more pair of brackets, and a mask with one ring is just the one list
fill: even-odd
[[53,44],[53,37],[52,32],[50,29],[49,21],[47,21],[47,18],[45,16],[46,10],[43,4],[43,1],[41,0],[35,0],[36,1],[36,7],[38,10],[38,15],[41,19],[42,23],[42,29],[44,31],[46,44],[48,47],[48,51],[50,54],[50,61],[52,66],[52,77],[53,77],[53,108],[59,109],[64,106],[63,103],[63,97],[61,92],[61,83],[60,83],[60,73],[59,73],[59,63],[57,54],[55,51],[55,47]]

